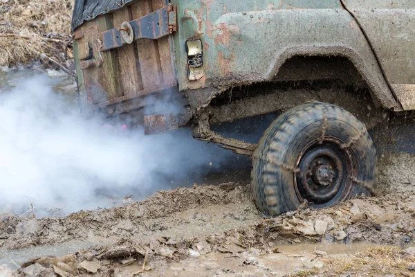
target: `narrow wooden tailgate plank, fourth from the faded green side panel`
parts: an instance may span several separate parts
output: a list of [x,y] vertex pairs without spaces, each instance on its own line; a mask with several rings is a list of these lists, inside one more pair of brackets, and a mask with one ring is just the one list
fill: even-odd
[[[97,19],[98,26],[100,27],[100,32],[113,28],[111,14],[101,15]],[[120,90],[118,82],[117,50],[113,49],[110,51],[105,51],[102,53],[102,57],[104,57],[104,64],[102,64],[102,66],[104,67],[105,76],[107,78],[107,98],[113,99],[122,96],[122,91]],[[102,82],[100,79],[96,81]]]

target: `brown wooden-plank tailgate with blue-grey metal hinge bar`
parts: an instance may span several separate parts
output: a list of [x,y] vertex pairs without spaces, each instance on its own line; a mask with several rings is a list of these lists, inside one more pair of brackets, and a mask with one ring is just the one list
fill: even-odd
[[175,24],[175,7],[166,0],[140,0],[75,30],[88,104],[104,107],[176,86]]

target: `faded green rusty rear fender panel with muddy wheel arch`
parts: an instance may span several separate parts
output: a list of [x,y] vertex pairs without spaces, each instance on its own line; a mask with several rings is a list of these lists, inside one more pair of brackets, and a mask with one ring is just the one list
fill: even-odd
[[[365,35],[338,0],[172,0],[172,4],[178,9],[174,43],[181,90],[219,87],[220,92],[273,80],[295,55],[338,55],[353,62],[383,107],[401,109]],[[203,42],[200,80],[187,79],[188,39]],[[193,97],[191,91],[188,94]],[[196,102],[205,106],[211,98]]]

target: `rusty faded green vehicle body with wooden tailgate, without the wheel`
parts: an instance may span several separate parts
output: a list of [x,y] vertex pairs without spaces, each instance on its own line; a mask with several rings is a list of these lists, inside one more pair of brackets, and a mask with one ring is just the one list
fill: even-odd
[[77,0],[72,28],[82,111],[147,134],[192,126],[252,155],[214,126],[308,100],[368,128],[415,109],[412,0]]

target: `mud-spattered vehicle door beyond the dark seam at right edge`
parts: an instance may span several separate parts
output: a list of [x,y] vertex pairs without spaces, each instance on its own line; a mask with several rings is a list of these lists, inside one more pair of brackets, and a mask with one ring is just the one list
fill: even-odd
[[342,0],[378,56],[404,109],[415,109],[415,1]]

